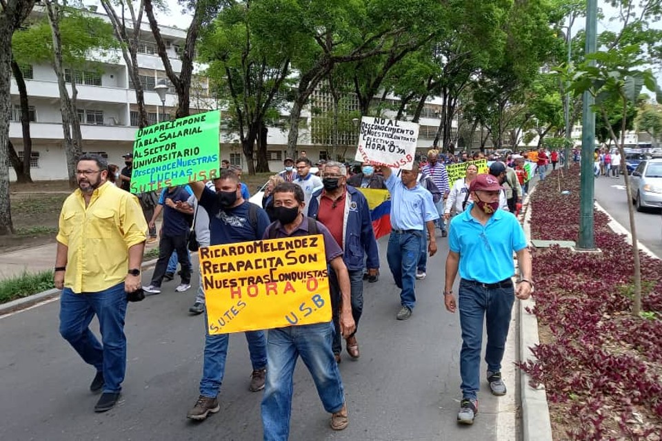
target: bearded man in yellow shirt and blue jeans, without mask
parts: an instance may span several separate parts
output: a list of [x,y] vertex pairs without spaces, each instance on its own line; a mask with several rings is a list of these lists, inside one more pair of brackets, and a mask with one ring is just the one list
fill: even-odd
[[[60,334],[97,369],[90,390],[103,389],[94,411],[105,412],[117,403],[124,380],[126,293],[141,286],[148,227],[137,198],[107,181],[104,158],[83,154],[76,177],[78,188],[64,201],[57,234]],[[95,314],[103,345],[88,327]]]

